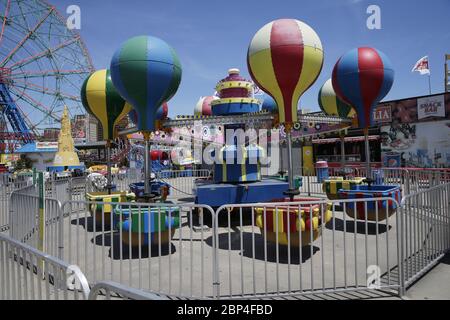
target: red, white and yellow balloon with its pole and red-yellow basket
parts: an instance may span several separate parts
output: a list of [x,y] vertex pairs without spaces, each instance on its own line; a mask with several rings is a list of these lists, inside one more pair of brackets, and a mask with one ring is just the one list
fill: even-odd
[[[300,193],[294,187],[291,131],[298,121],[298,101],[317,80],[323,61],[319,36],[310,26],[295,19],[280,19],[266,24],[255,34],[248,49],[250,75],[257,86],[275,101],[278,122],[286,130],[289,189],[285,195],[291,201]],[[319,207],[274,207],[268,210],[267,224],[263,222],[263,212],[256,208],[256,225],[262,233],[267,234],[269,241],[294,247],[300,243],[305,246],[320,236],[323,225],[331,218],[327,209]],[[321,212],[321,209],[325,212]],[[292,213],[294,215],[290,220],[287,216]],[[280,221],[291,221],[291,225],[279,224]],[[291,231],[292,239],[298,239],[301,233],[306,234],[306,237],[301,242],[289,241],[287,230]]]

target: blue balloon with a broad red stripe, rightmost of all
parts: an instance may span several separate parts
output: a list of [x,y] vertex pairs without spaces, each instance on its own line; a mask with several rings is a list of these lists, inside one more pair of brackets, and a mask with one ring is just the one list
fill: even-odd
[[394,69],[389,58],[374,48],[356,48],[344,54],[333,70],[336,94],[352,105],[358,114],[358,125],[372,125],[372,109],[391,90]]

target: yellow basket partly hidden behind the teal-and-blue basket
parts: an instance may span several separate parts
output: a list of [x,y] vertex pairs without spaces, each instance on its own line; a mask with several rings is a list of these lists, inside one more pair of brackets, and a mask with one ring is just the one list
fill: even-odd
[[[89,212],[95,217],[97,226],[111,226],[111,213],[119,202],[132,202],[136,198],[135,194],[126,191],[108,192],[90,192],[86,194],[86,200],[90,202]],[[100,202],[98,204],[93,202]],[[104,219],[103,219],[104,218]]]

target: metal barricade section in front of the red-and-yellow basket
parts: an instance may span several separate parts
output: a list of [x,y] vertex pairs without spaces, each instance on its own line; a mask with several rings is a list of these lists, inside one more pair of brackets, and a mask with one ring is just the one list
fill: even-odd
[[[257,299],[368,289],[399,292],[398,216],[390,216],[386,203],[398,206],[392,198],[380,198],[219,208],[217,296]],[[383,216],[385,223],[369,220]]]

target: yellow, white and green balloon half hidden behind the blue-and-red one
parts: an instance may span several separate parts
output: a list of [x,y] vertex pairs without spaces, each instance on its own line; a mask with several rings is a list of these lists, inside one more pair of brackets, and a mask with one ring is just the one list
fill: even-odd
[[319,106],[329,116],[353,118],[356,115],[355,110],[336,95],[331,79],[328,79],[320,88]]

